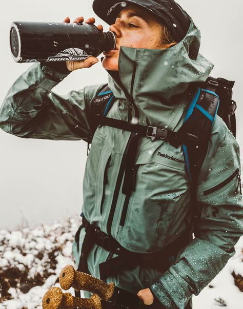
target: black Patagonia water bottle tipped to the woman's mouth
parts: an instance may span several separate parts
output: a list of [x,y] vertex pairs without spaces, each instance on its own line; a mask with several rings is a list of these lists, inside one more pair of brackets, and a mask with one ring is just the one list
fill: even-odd
[[74,61],[115,49],[113,32],[76,23],[13,22],[10,48],[18,63]]

